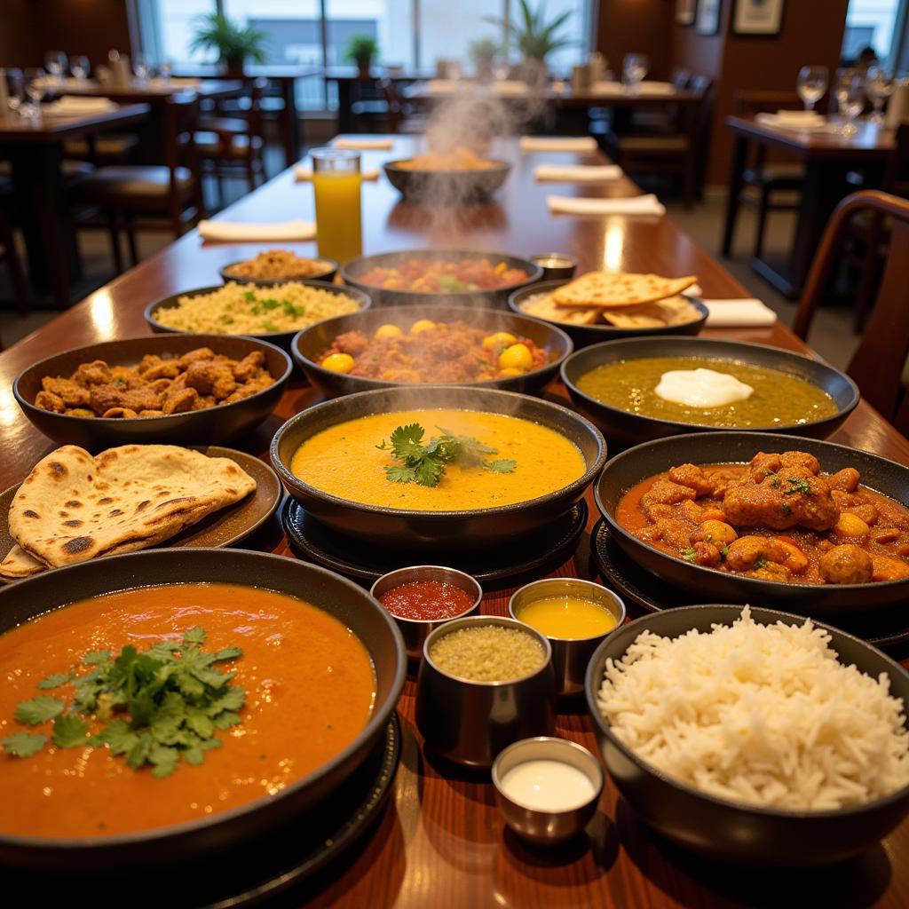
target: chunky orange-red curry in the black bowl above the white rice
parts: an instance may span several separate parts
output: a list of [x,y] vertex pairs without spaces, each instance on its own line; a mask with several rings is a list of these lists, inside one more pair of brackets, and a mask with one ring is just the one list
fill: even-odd
[[813,454],[755,454],[749,464],[680,464],[635,485],[615,520],[692,564],[788,584],[909,578],[909,509],[822,474]]

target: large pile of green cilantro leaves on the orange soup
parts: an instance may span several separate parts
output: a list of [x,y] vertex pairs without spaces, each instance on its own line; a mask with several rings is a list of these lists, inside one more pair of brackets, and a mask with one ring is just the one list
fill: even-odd
[[[205,752],[220,748],[217,730],[240,723],[237,711],[246,693],[233,684],[234,673],[216,664],[243,655],[240,647],[205,653],[205,629],[190,628],[181,642],[157,641],[147,650],[131,644],[119,654],[93,651],[82,664],[93,668],[48,675],[39,688],[72,683],[72,703],[38,694],[15,708],[18,723],[53,721],[50,740],[58,748],[108,748],[130,767],[148,764],[154,776],[174,772],[181,759],[202,764]],[[100,724],[100,728],[98,728]],[[95,729],[94,734],[89,732]],[[18,732],[0,741],[4,754],[29,757],[47,743],[46,734]]]

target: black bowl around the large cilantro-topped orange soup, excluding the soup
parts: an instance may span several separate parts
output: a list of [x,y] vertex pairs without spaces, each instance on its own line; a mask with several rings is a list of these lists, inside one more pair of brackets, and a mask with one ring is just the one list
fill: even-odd
[[203,820],[135,834],[55,839],[13,836],[0,822],[0,862],[43,871],[104,873],[134,864],[172,861],[251,842],[299,817],[345,783],[365,760],[395,710],[407,660],[394,619],[362,587],[315,565],[280,555],[236,549],[168,549],[115,555],[104,570],[91,562],[60,568],[0,590],[0,633],[86,597],[152,584],[246,584],[304,599],[349,627],[375,668],[375,705],[355,740],[280,793]]

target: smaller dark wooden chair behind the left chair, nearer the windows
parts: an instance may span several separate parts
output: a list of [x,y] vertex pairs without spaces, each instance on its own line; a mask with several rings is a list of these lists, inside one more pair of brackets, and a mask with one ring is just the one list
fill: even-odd
[[199,120],[195,146],[202,175],[215,177],[219,203],[224,201],[225,177],[245,175],[250,192],[255,189],[256,180],[265,183],[262,104],[267,87],[267,79],[253,80],[245,115],[206,116]]

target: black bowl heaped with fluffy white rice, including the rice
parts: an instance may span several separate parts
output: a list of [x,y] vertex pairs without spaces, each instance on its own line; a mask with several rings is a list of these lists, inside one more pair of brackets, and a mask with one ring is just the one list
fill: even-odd
[[909,674],[829,625],[740,605],[646,615],[604,640],[585,687],[625,801],[696,852],[840,861],[909,813]]

